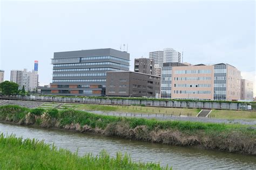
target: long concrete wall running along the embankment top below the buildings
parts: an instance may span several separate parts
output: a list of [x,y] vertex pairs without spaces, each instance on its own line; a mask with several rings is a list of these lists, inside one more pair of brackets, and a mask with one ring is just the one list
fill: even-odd
[[247,104],[242,103],[218,103],[214,101],[176,101],[176,100],[132,100],[132,99],[93,99],[79,97],[53,97],[53,96],[17,96],[16,99],[52,101],[84,104],[106,105],[146,105],[156,107],[182,107],[182,108],[209,108],[225,110],[247,110]]

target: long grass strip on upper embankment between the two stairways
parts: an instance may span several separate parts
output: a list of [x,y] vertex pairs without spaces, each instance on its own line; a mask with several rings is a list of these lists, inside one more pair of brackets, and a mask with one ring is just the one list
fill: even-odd
[[174,115],[187,115],[187,113],[192,114],[192,116],[196,116],[200,109],[193,108],[171,108],[171,107],[144,107],[144,106],[118,106],[118,105],[91,105],[91,104],[83,104],[80,105],[77,110],[85,110],[85,111],[114,111],[114,112],[132,112],[132,113],[161,113],[161,114],[174,114]]

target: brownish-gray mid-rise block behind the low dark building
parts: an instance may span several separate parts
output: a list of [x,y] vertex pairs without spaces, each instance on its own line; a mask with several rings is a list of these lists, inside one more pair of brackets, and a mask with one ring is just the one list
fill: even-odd
[[154,60],[149,58],[134,59],[134,72],[154,75]]

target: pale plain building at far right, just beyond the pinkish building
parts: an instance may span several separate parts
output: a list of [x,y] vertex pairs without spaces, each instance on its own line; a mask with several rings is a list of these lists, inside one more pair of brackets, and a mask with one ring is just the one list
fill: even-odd
[[253,101],[253,82],[241,79],[241,100]]

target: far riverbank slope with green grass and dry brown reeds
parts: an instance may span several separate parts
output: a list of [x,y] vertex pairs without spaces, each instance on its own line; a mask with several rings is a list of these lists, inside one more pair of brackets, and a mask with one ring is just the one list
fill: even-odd
[[1,106],[0,120],[163,144],[256,154],[255,126],[159,121],[97,115],[76,110],[43,110],[19,106]]

